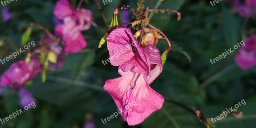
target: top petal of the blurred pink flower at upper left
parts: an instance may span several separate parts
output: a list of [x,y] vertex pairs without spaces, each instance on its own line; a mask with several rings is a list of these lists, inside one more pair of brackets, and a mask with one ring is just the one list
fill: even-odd
[[67,16],[73,15],[74,10],[68,0],[60,0],[55,5],[53,13],[58,19],[62,20]]

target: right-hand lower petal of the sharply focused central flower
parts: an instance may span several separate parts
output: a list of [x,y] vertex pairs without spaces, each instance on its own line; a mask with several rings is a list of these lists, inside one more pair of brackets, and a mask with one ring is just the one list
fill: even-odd
[[[151,113],[162,108],[164,103],[164,97],[153,90],[146,82],[145,74],[140,74],[136,79],[129,101],[124,106],[125,108],[129,106],[126,118],[128,125],[142,123]],[[137,105],[130,107],[132,102],[135,102]]]

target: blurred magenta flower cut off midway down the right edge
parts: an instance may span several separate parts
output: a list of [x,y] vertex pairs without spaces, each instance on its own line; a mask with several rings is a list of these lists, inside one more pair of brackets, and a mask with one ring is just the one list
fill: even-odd
[[238,67],[247,70],[256,65],[256,37],[249,37],[245,46],[240,48],[240,53],[235,56]]

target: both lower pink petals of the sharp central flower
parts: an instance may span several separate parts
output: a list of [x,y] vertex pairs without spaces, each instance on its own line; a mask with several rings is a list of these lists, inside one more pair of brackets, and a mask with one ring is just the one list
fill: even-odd
[[145,74],[132,70],[119,78],[107,80],[104,90],[115,100],[117,108],[125,111],[121,116],[129,125],[140,124],[164,103],[164,98],[146,82]]

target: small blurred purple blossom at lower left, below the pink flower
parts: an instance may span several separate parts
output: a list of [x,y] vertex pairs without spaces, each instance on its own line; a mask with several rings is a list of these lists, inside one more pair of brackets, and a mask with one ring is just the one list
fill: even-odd
[[19,90],[18,94],[20,97],[20,106],[25,107],[28,106],[28,104],[31,104],[32,102],[36,103],[36,99],[27,90],[22,88]]

